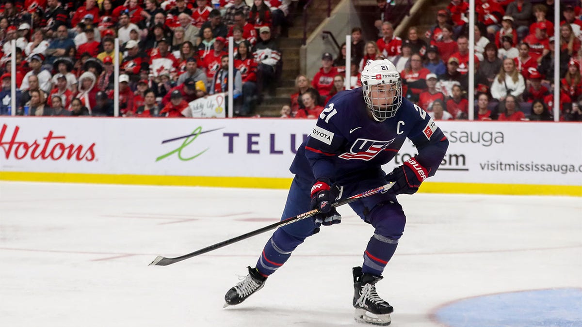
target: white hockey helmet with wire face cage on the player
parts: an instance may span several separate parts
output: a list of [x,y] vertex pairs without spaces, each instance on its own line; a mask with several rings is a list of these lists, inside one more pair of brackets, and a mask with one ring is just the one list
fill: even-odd
[[391,61],[368,61],[361,82],[365,103],[375,120],[382,122],[396,115],[402,104],[402,81]]

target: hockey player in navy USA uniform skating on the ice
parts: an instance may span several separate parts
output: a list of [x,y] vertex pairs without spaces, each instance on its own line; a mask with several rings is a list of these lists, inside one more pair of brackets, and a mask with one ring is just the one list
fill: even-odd
[[[384,193],[354,201],[350,207],[374,226],[364,251],[364,264],[353,268],[356,321],[388,325],[393,308],[376,292],[375,284],[398,246],[406,216],[398,194],[416,193],[435,174],[449,141],[430,116],[402,96],[402,80],[387,59],[370,61],[361,73],[361,88],[341,91],[321,113],[313,132],[300,145],[291,165],[291,184],[282,219],[320,210],[315,219],[304,219],[277,229],[267,241],[255,268],[228,290],[225,307],[239,304],[260,290],[268,276],[279,269],[292,251],[320,230],[339,223],[332,203],[394,182]],[[409,138],[416,157],[386,176],[381,165],[392,160]]]

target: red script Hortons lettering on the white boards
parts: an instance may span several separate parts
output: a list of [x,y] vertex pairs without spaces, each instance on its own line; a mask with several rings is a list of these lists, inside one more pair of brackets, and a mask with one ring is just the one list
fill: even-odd
[[52,130],[49,130],[47,136],[42,137],[41,140],[34,140],[30,143],[28,141],[17,140],[20,131],[19,126],[14,127],[12,136],[6,130],[8,130],[8,126],[6,124],[2,125],[2,130],[0,131],[0,147],[4,150],[4,157],[6,159],[12,157],[17,160],[95,160],[95,143],[91,143],[88,147],[81,144],[66,143],[65,136],[56,136]]

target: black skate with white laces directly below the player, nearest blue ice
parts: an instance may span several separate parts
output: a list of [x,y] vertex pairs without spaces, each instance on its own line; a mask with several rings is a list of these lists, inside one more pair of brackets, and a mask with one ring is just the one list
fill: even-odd
[[353,305],[356,308],[354,319],[365,324],[390,325],[390,314],[394,309],[376,293],[375,285],[382,277],[362,273],[361,267],[354,267],[353,275]]

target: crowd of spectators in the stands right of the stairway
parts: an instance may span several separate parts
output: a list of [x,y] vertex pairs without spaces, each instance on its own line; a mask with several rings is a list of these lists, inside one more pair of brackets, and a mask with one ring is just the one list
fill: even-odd
[[[385,0],[378,0],[384,8]],[[553,88],[559,87],[560,120],[582,120],[582,20],[580,2],[562,2],[562,20],[553,22],[553,0],[477,0],[475,3],[475,119],[553,120]],[[469,117],[469,3],[452,0],[436,12],[435,24],[421,35],[409,27],[402,40],[391,22],[376,22],[377,40],[365,41],[361,29],[352,30],[352,58],[345,44],[334,59],[322,56],[321,69],[309,83],[296,80],[297,93],[282,117],[317,117],[333,95],[336,77],[345,78],[351,63],[352,86],[360,86],[360,73],[369,60],[390,59],[403,80],[403,96],[425,109],[434,119]],[[553,35],[554,23],[559,35]],[[554,80],[555,42],[559,42],[559,80]],[[338,90],[337,88],[334,89]],[[339,89],[341,90],[341,89]],[[304,97],[318,98],[309,108]]]

